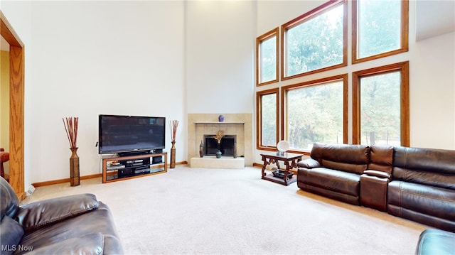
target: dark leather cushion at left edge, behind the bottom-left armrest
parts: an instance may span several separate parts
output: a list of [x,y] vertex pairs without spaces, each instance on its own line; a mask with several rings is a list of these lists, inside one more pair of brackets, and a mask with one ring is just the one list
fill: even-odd
[[13,254],[22,236],[21,225],[9,216],[3,217],[0,222],[1,254]]

